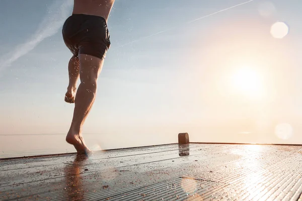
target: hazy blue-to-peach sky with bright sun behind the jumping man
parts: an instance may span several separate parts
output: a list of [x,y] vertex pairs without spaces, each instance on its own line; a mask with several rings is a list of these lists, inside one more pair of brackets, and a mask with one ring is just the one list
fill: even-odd
[[[69,129],[71,53],[61,29],[72,6],[0,0],[2,147],[12,136]],[[194,142],[302,144],[301,8],[299,0],[116,0],[84,137],[105,147],[174,143],[181,132]]]

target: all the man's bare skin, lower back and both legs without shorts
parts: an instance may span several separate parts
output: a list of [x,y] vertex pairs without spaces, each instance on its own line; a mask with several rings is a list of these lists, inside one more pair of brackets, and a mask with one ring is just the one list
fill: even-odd
[[[107,21],[113,4],[114,0],[74,0],[72,14],[101,16]],[[75,106],[66,141],[72,144],[79,154],[92,153],[85,144],[82,128],[96,98],[97,79],[103,64],[104,60],[86,54],[80,54],[78,58],[71,57],[68,63],[69,84],[65,102],[74,103]],[[77,90],[79,77],[81,83]]]

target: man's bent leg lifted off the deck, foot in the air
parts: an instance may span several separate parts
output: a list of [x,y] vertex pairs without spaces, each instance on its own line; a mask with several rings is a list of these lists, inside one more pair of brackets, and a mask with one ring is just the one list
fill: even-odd
[[69,84],[65,94],[65,102],[67,103],[74,103],[75,92],[77,92],[77,81],[80,75],[79,68],[79,58],[72,56],[68,63]]

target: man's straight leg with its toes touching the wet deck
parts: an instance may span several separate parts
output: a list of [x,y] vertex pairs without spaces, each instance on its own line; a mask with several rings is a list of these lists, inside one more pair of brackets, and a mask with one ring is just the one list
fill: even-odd
[[66,141],[72,144],[78,153],[89,154],[91,151],[84,142],[82,127],[96,97],[97,79],[102,70],[104,60],[80,54],[79,61],[81,84],[75,95],[73,119],[66,136]]

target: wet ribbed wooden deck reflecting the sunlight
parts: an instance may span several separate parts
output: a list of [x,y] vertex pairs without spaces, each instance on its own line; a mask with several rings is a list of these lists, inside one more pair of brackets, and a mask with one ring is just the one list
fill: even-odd
[[302,200],[302,146],[171,144],[0,165],[0,200]]

